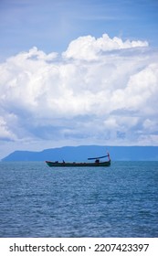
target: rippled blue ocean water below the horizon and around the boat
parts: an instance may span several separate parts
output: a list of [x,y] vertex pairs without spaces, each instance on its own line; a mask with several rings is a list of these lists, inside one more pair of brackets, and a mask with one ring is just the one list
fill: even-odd
[[0,162],[0,237],[158,237],[158,162]]

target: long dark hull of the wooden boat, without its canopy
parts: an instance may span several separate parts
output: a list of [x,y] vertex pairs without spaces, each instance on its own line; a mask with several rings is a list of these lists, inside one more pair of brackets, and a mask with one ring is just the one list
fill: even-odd
[[49,167],[107,167],[111,165],[111,160],[100,163],[58,163],[46,161]]

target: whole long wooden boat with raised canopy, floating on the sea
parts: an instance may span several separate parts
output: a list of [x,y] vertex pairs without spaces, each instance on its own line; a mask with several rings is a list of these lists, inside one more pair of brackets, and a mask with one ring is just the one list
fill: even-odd
[[[108,157],[108,161],[100,162],[100,158]],[[107,167],[111,165],[111,158],[108,153],[108,155],[100,156],[100,157],[92,157],[88,158],[88,160],[95,160],[95,162],[92,163],[76,163],[76,162],[51,162],[46,161],[47,165],[49,167]]]

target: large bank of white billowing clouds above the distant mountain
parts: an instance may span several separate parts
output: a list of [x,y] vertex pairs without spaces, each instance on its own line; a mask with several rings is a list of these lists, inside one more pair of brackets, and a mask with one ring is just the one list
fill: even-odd
[[34,47],[6,59],[0,140],[158,145],[157,54],[146,41],[104,34],[79,37],[62,54]]

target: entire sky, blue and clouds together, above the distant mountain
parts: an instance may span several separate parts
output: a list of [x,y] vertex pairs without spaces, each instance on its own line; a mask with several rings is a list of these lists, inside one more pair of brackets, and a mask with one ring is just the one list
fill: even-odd
[[157,0],[0,0],[0,159],[158,145]]

